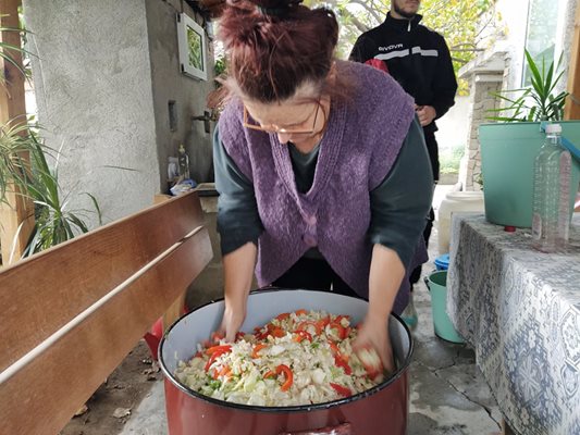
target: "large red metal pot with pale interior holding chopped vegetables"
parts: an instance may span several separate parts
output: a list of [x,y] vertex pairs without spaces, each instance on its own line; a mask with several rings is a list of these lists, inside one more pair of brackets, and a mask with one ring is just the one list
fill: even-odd
[[[252,293],[242,331],[252,331],[273,316],[298,309],[349,314],[363,320],[368,302],[328,291],[279,289]],[[256,407],[215,400],[182,385],[173,375],[178,361],[195,353],[222,319],[223,300],[211,302],[180,319],[163,337],[159,362],[165,375],[165,406],[171,435],[404,435],[408,414],[408,366],[412,339],[396,315],[388,322],[396,373],[365,393],[326,403],[299,407]]]

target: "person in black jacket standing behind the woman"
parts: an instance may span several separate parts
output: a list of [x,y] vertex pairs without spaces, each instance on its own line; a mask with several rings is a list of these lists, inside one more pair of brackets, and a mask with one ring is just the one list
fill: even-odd
[[[415,98],[417,116],[423,127],[436,183],[440,164],[435,120],[447,113],[455,103],[457,80],[449,49],[443,36],[419,24],[422,18],[417,13],[420,4],[420,0],[391,0],[391,11],[386,20],[359,36],[349,59],[373,66],[377,66],[377,61],[384,62],[385,67],[382,70],[388,71],[388,74]],[[434,219],[431,209],[423,233],[425,244],[429,243]],[[410,276],[411,288],[420,275],[421,268],[418,268]],[[411,326],[417,323],[412,299],[404,318]]]

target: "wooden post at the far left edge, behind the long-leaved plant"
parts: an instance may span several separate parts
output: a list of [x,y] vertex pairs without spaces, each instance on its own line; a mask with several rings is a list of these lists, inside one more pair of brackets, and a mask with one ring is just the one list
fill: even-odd
[[[0,0],[0,26],[20,28],[18,7],[21,0]],[[4,44],[22,47],[18,32],[0,32],[0,39]],[[22,53],[17,50],[4,50],[14,62],[22,69]],[[24,75],[11,62],[0,58],[0,70],[3,72],[4,83],[0,86],[0,123],[11,122],[13,125],[26,122],[26,104],[24,91]],[[25,158],[25,157],[23,157]],[[30,235],[34,226],[34,204],[30,200],[14,192],[8,195],[7,203],[0,204],[0,247],[2,263],[9,264],[10,253],[14,247],[14,258],[17,260]],[[18,233],[18,227],[22,228]],[[16,237],[16,234],[18,236]]]

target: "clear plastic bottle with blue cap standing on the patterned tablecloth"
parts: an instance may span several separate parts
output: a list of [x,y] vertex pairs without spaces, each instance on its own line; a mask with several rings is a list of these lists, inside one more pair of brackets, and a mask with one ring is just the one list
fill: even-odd
[[562,126],[546,126],[546,139],[534,163],[533,247],[555,252],[566,247],[570,228],[571,156],[562,146]]

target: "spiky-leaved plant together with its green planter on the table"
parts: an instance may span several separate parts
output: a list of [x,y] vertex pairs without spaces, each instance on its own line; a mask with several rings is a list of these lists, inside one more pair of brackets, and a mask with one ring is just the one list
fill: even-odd
[[[479,127],[481,169],[484,183],[485,217],[488,221],[517,227],[531,227],[533,164],[545,135],[542,122],[562,124],[563,136],[580,146],[580,122],[563,121],[568,92],[556,88],[564,71],[559,64],[538,65],[526,51],[531,85],[523,89],[505,90],[494,96],[507,102],[492,110],[490,121]],[[516,94],[516,97],[508,95]],[[575,160],[570,186],[573,204],[580,179],[580,163]]]

